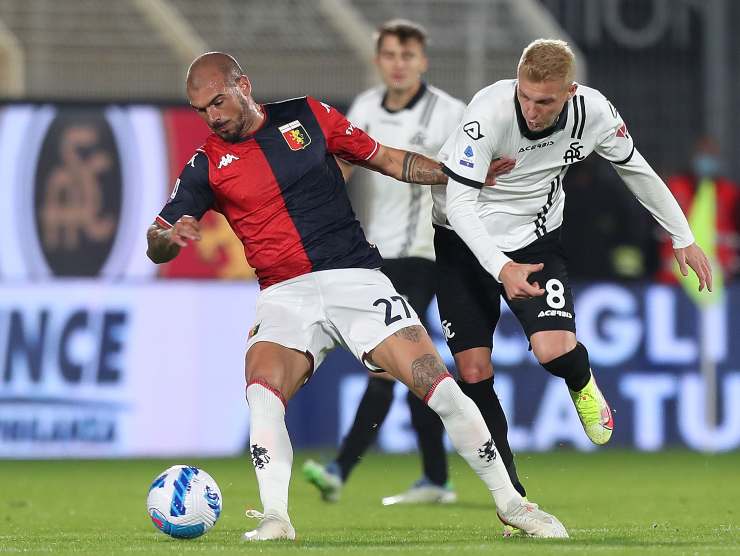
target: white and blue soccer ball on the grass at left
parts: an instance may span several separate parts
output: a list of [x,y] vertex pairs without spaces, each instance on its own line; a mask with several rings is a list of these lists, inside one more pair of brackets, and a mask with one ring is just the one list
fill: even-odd
[[149,487],[146,507],[154,526],[171,537],[200,537],[221,515],[221,491],[208,473],[173,465]]

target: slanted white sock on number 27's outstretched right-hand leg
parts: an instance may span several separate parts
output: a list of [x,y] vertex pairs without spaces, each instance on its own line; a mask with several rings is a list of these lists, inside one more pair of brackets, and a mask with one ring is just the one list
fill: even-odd
[[425,401],[442,419],[457,453],[486,483],[496,507],[506,511],[512,500],[521,500],[511,484],[480,410],[473,400],[463,394],[455,380],[450,375],[442,378],[436,387],[432,387]]

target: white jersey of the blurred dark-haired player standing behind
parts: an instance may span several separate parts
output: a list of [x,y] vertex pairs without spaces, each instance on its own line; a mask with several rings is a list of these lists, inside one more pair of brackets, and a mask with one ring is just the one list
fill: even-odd
[[[465,110],[464,103],[428,85],[422,85],[409,104],[395,112],[383,107],[384,95],[384,87],[360,94],[347,119],[383,145],[431,157],[455,130]],[[444,195],[444,186],[437,187]],[[378,246],[383,257],[434,259],[428,185],[399,182],[357,167],[348,191],[368,241]]]

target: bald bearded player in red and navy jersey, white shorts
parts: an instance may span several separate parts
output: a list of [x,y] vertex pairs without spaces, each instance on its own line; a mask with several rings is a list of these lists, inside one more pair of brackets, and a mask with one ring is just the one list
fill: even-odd
[[259,279],[245,374],[264,512],[248,514],[260,522],[244,539],[295,538],[285,407],[339,345],[369,369],[401,380],[440,416],[458,453],[491,491],[502,521],[535,536],[567,537],[555,517],[514,489],[475,404],[447,372],[413,308],[377,270],[382,258],[354,217],[335,157],[430,185],[447,181],[441,165],[377,143],[311,97],[257,104],[249,78],[227,54],[196,58],[187,94],[213,133],[150,226],[147,254],[155,263],[173,259],[200,238],[198,220],[215,209],[244,244]]

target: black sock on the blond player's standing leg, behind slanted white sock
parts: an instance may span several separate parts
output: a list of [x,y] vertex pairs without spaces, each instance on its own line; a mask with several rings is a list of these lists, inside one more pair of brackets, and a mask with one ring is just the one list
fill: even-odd
[[506,414],[501,407],[501,402],[496,392],[493,391],[493,377],[473,384],[459,380],[458,384],[463,393],[475,402],[475,405],[478,406],[478,409],[483,414],[483,420],[486,422],[486,426],[491,433],[494,444],[496,444],[498,453],[501,455],[501,461],[506,466],[506,471],[509,473],[509,478],[514,488],[519,494],[526,496],[527,491],[516,474],[514,454],[511,452],[509,439],[507,438],[509,425],[506,422]]

